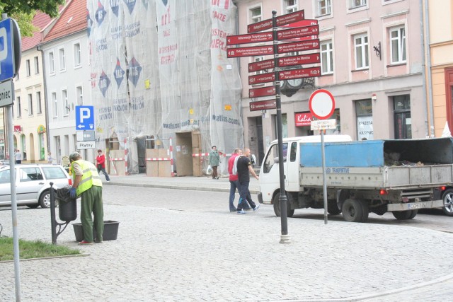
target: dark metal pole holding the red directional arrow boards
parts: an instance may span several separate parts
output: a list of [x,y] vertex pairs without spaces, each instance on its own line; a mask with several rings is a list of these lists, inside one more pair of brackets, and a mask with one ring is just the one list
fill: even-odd
[[280,171],[280,219],[282,224],[282,234],[280,243],[291,243],[288,235],[288,219],[287,219],[287,196],[285,190],[285,170],[283,167],[283,134],[282,134],[282,102],[280,100],[280,78],[278,68],[278,52],[277,52],[277,11],[272,11],[272,24],[274,34],[274,62],[275,62],[275,100],[277,107],[277,137],[278,137],[278,168]]

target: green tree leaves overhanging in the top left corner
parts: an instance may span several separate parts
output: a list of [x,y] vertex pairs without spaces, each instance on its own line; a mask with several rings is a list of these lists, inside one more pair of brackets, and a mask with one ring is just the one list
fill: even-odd
[[0,0],[0,11],[13,15],[14,13],[34,13],[42,11],[55,18],[58,16],[58,7],[66,0]]

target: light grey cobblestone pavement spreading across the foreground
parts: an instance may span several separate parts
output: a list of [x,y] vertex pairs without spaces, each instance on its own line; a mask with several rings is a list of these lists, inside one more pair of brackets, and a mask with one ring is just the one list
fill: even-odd
[[[230,214],[226,194],[192,190],[187,199],[222,196],[204,209],[115,202],[118,182],[104,189],[105,212],[120,221],[117,240],[81,247],[86,257],[21,261],[22,301],[452,300],[450,233],[289,219],[292,243],[279,244],[271,206]],[[193,178],[192,189],[204,182]],[[171,191],[144,186],[140,194]],[[0,210],[0,221],[11,236],[11,211]],[[51,240],[49,211],[20,209],[18,221],[21,238]],[[79,248],[69,228],[58,244]],[[13,262],[0,263],[0,280],[0,300],[14,301]]]

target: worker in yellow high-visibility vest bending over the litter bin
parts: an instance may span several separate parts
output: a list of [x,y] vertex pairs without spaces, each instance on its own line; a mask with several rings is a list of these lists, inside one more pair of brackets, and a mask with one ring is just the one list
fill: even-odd
[[[101,178],[93,163],[84,161],[79,153],[71,153],[69,161],[72,171],[72,187],[69,193],[72,198],[81,197],[80,221],[84,229],[84,240],[79,245],[91,245],[93,241],[102,243],[104,209]],[[97,238],[93,238],[93,226]]]

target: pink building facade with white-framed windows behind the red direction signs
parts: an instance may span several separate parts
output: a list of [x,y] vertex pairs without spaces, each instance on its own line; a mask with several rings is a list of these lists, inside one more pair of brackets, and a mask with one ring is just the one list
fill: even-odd
[[[272,18],[273,10],[277,16],[304,10],[305,19],[319,23],[321,62],[291,68],[321,66],[321,76],[280,83],[284,137],[314,134],[309,125],[312,116],[308,100],[316,88],[327,89],[335,97],[336,110],[331,118],[337,120],[337,129],[331,132],[349,134],[357,140],[430,135],[420,1],[236,0],[234,4],[239,14],[238,34],[247,33],[251,23]],[[314,52],[318,51],[298,54]],[[272,83],[251,86],[248,76],[273,70],[249,73],[248,64],[271,58],[240,59],[245,143],[258,154],[258,160],[270,141],[277,138],[276,110],[251,111],[249,106],[253,101],[275,97],[249,98],[250,88]]]

